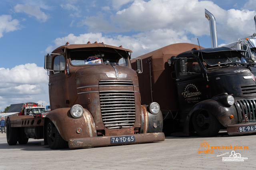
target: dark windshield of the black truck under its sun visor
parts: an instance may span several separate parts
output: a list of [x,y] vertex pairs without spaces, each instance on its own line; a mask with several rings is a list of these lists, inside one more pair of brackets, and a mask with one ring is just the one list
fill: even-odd
[[203,53],[204,62],[209,66],[221,64],[247,64],[244,56],[236,51],[218,51],[214,53]]

